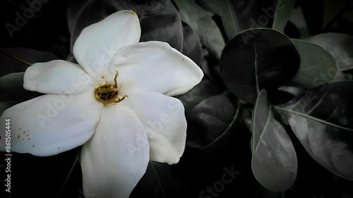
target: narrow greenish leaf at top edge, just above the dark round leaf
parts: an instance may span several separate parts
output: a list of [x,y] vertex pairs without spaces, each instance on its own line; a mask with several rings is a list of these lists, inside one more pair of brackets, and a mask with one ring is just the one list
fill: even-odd
[[240,31],[237,16],[235,16],[231,0],[220,1],[220,13],[222,17],[223,27],[228,39],[232,39]]

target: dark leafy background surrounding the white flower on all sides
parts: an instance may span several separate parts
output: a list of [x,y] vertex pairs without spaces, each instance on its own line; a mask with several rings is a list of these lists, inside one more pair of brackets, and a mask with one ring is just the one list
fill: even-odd
[[[84,27],[130,9],[140,41],[168,42],[203,69],[201,83],[177,96],[188,120],[181,161],[150,162],[131,197],[353,197],[353,173],[343,173],[349,164],[332,157],[353,147],[353,3],[279,2],[285,6],[275,16],[273,0],[3,0],[0,47],[29,63],[75,61],[71,49]],[[1,113],[40,95],[22,87],[28,66],[4,53],[0,65]],[[308,122],[325,130],[296,128]],[[318,153],[310,142],[327,142],[313,132],[332,140]],[[335,150],[333,142],[347,147]],[[84,197],[77,155],[13,153],[11,194],[1,157],[0,197]]]

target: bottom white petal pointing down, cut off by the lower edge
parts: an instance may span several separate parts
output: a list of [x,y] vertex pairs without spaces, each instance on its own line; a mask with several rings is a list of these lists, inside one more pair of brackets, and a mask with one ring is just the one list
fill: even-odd
[[85,196],[127,198],[146,171],[149,149],[145,128],[131,109],[104,106],[95,134],[81,151]]

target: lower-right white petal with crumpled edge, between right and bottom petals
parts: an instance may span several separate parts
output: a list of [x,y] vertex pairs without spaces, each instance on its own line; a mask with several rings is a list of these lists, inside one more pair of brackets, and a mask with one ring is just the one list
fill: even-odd
[[177,163],[186,142],[186,118],[179,99],[159,92],[124,92],[128,97],[121,104],[135,111],[145,126],[150,142],[150,159],[162,163]]

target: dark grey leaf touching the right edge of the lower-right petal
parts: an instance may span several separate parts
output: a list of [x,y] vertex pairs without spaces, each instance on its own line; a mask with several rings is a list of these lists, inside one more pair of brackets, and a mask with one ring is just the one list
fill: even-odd
[[217,139],[232,123],[237,109],[225,95],[209,97],[186,113],[188,140],[204,147]]

